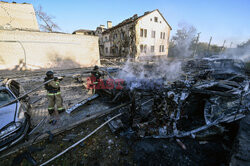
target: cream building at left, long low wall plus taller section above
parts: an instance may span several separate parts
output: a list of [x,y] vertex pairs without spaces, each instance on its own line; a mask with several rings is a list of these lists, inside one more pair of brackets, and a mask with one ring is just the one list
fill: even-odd
[[31,4],[0,2],[0,70],[99,65],[99,38],[94,33],[40,32]]

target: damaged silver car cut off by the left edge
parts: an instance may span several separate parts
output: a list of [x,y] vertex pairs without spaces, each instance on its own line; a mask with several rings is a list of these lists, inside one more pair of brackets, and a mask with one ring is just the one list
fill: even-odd
[[17,100],[23,91],[14,80],[0,82],[0,151],[24,139],[29,130],[27,97]]

